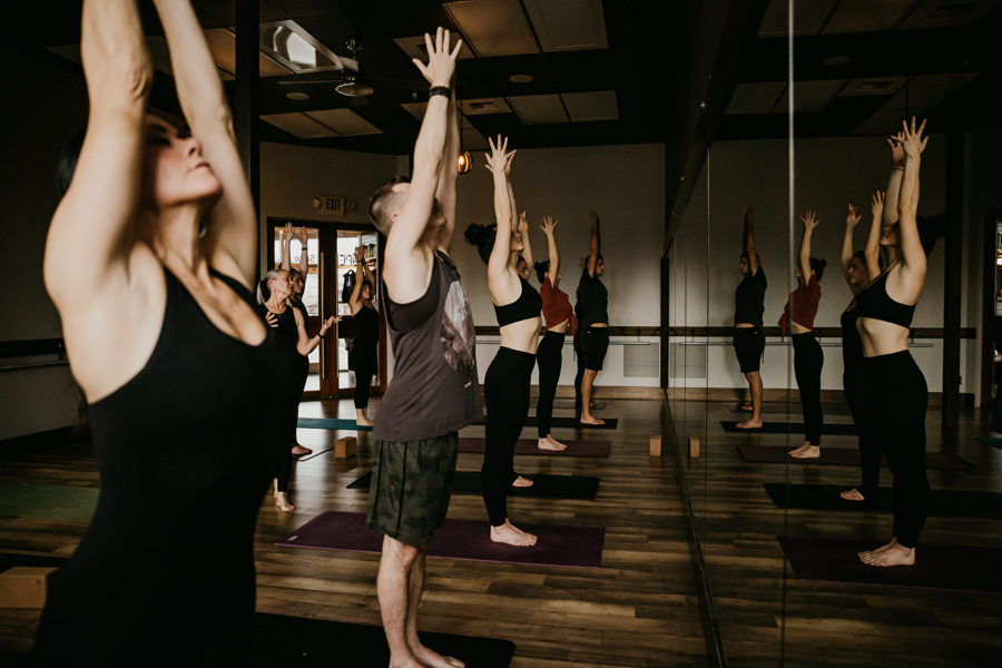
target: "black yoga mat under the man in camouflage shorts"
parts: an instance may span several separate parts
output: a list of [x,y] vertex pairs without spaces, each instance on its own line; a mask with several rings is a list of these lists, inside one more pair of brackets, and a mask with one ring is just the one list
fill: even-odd
[[[422,631],[421,641],[443,656],[478,668],[505,668],[515,650],[509,640],[451,633]],[[390,648],[382,627],[263,612],[254,616],[250,656],[250,665],[262,668],[385,668],[390,665]]]

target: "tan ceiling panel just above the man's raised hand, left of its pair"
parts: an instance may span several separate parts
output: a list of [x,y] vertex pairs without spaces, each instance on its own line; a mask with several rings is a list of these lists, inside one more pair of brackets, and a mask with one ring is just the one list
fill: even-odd
[[519,0],[475,0],[442,4],[477,56],[539,53]]

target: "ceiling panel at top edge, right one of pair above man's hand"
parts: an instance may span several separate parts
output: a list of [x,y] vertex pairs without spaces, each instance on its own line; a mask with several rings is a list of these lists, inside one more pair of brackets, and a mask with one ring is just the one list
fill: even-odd
[[543,51],[609,46],[601,0],[523,0],[523,3]]

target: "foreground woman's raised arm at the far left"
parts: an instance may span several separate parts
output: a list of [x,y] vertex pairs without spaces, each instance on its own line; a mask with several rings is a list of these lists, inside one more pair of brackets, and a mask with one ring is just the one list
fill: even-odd
[[90,99],[87,136],[49,227],[43,267],[65,328],[128,281],[153,78],[135,0],[87,0],[80,48]]

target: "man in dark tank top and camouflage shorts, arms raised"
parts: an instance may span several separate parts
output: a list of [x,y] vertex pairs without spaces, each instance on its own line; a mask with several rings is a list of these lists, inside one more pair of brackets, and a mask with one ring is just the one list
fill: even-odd
[[462,48],[448,30],[425,36],[429,62],[414,63],[431,84],[414,146],[413,180],[379,188],[369,215],[386,236],[383,313],[395,358],[393,380],[373,430],[370,530],[384,534],[377,590],[391,666],[449,666],[418,636],[424,560],[445,522],[459,455],[459,430],[483,416],[473,317],[449,258],[455,229],[459,155],[453,73]]

